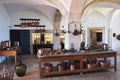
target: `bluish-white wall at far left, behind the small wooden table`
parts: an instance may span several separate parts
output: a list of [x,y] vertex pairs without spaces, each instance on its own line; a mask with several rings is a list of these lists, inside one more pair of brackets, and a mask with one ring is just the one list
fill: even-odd
[[[9,40],[9,17],[3,5],[0,4],[0,42],[4,40]],[[0,62],[3,61],[5,57],[0,56]]]

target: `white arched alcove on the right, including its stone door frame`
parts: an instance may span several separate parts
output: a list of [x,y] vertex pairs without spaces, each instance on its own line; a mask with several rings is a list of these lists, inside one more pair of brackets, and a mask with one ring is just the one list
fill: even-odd
[[[102,41],[101,43],[105,42],[105,25],[106,25],[106,17],[100,13],[99,11],[93,10],[92,12],[89,12],[87,14],[87,18],[85,18],[83,24],[84,24],[84,30],[85,30],[85,42],[86,45],[91,45],[91,30],[101,30],[102,32]],[[84,17],[83,17],[84,18]]]

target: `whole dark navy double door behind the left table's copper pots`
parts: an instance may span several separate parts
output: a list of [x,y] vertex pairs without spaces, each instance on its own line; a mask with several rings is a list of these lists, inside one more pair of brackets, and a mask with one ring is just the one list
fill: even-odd
[[19,41],[21,54],[30,54],[30,31],[10,30],[10,41]]

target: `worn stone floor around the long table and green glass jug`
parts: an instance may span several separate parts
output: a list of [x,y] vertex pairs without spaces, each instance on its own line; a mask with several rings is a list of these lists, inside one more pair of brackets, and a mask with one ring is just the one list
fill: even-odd
[[[83,75],[66,75],[40,78],[38,68],[38,58],[35,55],[24,55],[21,58],[27,66],[27,72],[24,77],[18,77],[14,73],[14,80],[120,80],[120,55],[117,56],[117,71],[109,69],[99,72],[88,72]],[[14,65],[12,64],[12,67]]]

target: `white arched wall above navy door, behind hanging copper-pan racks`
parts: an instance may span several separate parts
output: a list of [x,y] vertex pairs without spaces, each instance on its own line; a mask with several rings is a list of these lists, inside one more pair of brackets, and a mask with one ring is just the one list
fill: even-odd
[[[23,29],[14,27],[21,23],[20,18],[40,19],[41,25],[46,25],[46,29],[53,29],[53,19],[55,8],[49,6],[25,6],[25,5],[5,5],[10,16],[11,29]],[[25,28],[24,28],[25,29]],[[26,28],[36,29],[36,28]]]

